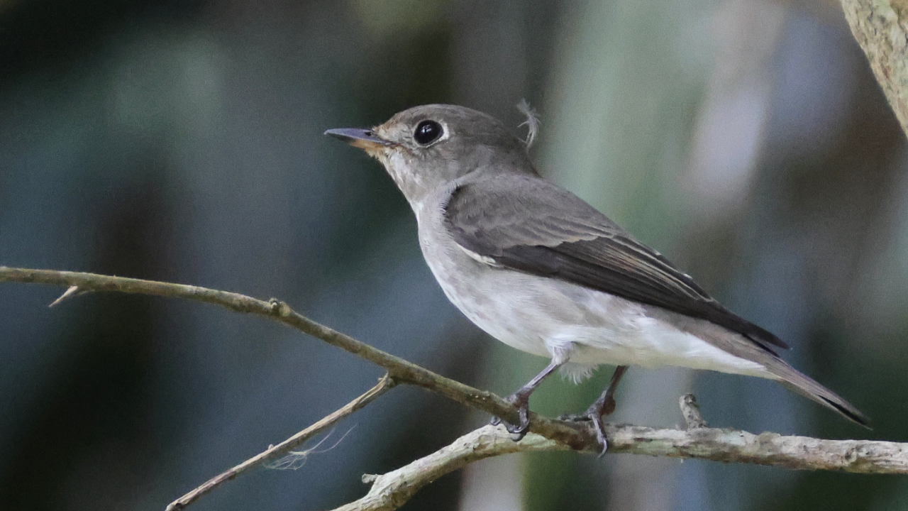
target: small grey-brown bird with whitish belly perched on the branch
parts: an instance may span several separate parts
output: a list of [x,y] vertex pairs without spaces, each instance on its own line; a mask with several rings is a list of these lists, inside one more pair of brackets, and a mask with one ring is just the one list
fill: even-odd
[[325,132],[377,158],[407,198],[419,246],[449,300],[499,341],[551,363],[508,400],[528,430],[529,395],[560,368],[615,376],[585,415],[602,416],[627,366],[682,366],[775,380],[860,425],[842,397],[779,358],[785,343],[721,306],[690,276],[567,190],[495,118],[454,105],[404,110],[371,129]]

